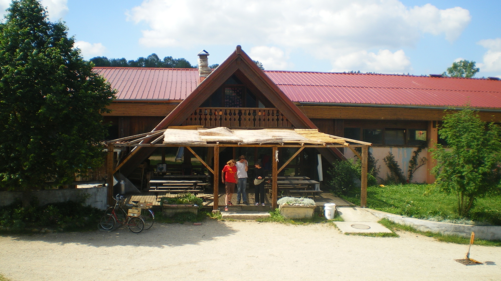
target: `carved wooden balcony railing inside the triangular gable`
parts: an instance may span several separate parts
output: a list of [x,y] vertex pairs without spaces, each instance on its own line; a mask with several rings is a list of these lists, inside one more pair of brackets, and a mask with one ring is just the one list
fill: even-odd
[[198,107],[183,125],[204,127],[292,128],[277,108]]

